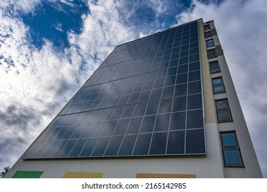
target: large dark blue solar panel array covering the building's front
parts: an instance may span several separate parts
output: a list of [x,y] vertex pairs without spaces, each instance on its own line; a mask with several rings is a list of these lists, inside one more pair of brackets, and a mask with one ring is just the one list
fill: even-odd
[[120,45],[23,158],[205,154],[197,22]]

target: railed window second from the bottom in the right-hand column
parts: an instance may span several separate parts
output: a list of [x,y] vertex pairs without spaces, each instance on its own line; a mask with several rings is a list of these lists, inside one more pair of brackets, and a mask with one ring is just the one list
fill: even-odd
[[215,101],[218,123],[233,121],[228,99]]

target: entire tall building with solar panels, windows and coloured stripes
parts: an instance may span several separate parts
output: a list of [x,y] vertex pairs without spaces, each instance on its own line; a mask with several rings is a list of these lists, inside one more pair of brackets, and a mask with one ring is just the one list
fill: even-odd
[[5,178],[262,178],[214,21],[117,46]]

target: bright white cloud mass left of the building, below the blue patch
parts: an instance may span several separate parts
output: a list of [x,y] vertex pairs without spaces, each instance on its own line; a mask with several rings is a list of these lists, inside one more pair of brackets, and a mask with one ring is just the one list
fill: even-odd
[[[16,11],[37,6],[22,2],[12,2]],[[120,23],[119,3],[88,1],[88,7],[81,33],[68,32],[71,46],[60,51],[49,40],[37,49],[19,14],[8,14],[0,4],[1,167],[21,156],[116,45],[133,39]]]

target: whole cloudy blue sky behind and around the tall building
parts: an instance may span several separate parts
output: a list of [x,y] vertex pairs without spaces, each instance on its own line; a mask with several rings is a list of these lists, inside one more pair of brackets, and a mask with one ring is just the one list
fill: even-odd
[[267,1],[0,1],[0,171],[14,165],[122,43],[214,20],[267,178]]

